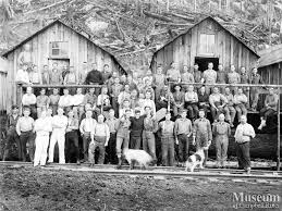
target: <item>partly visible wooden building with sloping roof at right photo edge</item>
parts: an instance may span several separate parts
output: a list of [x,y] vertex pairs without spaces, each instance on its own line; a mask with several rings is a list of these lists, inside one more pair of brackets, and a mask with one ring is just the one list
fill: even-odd
[[[263,83],[282,85],[282,45],[270,47],[260,51],[259,54],[258,73]],[[282,89],[280,94],[280,99],[282,99]],[[282,110],[282,100],[280,100],[280,110]]]

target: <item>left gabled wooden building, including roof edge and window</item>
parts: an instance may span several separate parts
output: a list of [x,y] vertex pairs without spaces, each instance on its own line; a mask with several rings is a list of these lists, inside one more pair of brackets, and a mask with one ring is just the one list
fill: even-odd
[[57,62],[59,69],[65,64],[74,66],[76,76],[78,76],[84,62],[87,62],[88,65],[95,62],[98,70],[102,70],[105,64],[109,64],[112,71],[125,73],[117,59],[90,40],[85,33],[79,33],[57,20],[3,53],[3,57],[8,59],[10,105],[16,102],[15,76],[20,69],[17,60],[25,45],[30,46],[33,63],[38,66],[39,71],[44,65],[47,64],[50,69],[52,63]]

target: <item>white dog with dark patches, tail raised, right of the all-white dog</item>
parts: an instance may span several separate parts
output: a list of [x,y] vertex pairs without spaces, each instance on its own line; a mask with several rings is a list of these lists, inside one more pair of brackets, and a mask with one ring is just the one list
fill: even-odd
[[210,142],[206,147],[200,148],[198,151],[196,151],[194,154],[192,154],[188,160],[186,161],[186,169],[187,172],[188,169],[191,172],[194,172],[194,169],[199,165],[200,169],[204,169],[203,163],[205,161],[205,152],[204,150],[208,150],[210,146]]

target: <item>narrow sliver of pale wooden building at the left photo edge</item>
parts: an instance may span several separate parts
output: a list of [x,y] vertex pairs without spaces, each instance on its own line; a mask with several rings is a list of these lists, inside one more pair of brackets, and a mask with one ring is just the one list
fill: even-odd
[[8,103],[8,84],[7,84],[7,60],[0,57],[0,113],[7,111]]

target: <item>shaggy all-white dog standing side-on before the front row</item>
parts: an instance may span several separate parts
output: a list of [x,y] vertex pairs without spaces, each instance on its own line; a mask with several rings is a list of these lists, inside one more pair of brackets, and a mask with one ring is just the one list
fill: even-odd
[[138,149],[124,149],[123,156],[131,165],[131,170],[134,169],[134,163],[137,162],[142,167],[147,169],[148,164],[152,161],[150,154],[144,150]]

